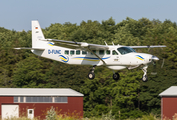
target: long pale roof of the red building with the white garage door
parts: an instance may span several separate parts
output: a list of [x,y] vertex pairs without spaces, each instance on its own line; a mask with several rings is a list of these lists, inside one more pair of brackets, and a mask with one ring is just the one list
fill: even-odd
[[84,96],[70,88],[0,88],[0,96]]

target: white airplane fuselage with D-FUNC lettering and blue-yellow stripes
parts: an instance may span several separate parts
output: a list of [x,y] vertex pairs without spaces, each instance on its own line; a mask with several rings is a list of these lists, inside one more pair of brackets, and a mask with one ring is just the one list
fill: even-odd
[[[105,65],[98,57],[88,51],[58,47],[45,42],[45,50],[32,50],[38,56],[56,60],[72,65]],[[121,54],[117,48],[122,46],[109,46],[109,50],[95,50],[106,66],[113,70],[138,67],[151,62],[152,55],[146,53],[130,52]],[[116,54],[115,54],[116,53]]]

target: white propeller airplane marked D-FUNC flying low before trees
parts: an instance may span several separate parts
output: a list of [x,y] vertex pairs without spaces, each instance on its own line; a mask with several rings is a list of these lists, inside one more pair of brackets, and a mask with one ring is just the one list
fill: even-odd
[[32,53],[72,65],[92,65],[93,68],[88,74],[89,79],[94,79],[96,66],[106,66],[113,71],[113,79],[118,80],[118,70],[134,69],[140,67],[144,72],[142,81],[146,82],[148,66],[158,61],[159,58],[147,54],[137,53],[134,48],[162,48],[165,45],[155,46],[124,46],[124,45],[99,45],[86,42],[46,39],[43,35],[38,21],[32,21]]

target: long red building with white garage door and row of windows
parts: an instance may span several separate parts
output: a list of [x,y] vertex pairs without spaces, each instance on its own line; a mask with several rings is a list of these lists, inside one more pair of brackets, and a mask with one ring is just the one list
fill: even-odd
[[45,118],[52,106],[61,114],[83,117],[83,94],[67,88],[0,88],[0,116]]

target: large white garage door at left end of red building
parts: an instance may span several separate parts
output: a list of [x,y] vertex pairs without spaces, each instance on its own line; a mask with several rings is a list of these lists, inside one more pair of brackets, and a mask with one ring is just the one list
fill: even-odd
[[2,119],[19,117],[19,106],[18,105],[1,105]]

